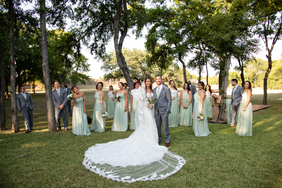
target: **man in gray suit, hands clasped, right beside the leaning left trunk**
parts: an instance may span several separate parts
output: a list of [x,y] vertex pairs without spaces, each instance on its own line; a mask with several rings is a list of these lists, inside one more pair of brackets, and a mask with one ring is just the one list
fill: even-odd
[[63,116],[63,121],[64,121],[64,128],[65,131],[68,131],[69,123],[66,115],[66,110],[68,107],[66,106],[67,100],[67,95],[64,89],[60,88],[60,83],[59,81],[54,81],[55,89],[52,91],[52,98],[53,98],[53,103],[55,105],[55,118],[56,118],[56,123],[58,125],[58,131],[61,131],[61,122],[60,118]]

